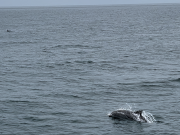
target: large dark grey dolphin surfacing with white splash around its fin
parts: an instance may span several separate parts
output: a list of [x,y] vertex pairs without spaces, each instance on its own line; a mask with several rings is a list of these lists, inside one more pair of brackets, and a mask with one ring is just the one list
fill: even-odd
[[135,112],[131,110],[117,110],[109,114],[109,117],[112,117],[115,119],[129,119],[129,120],[147,122],[145,117],[143,117],[142,113],[143,113],[143,110],[139,110]]

